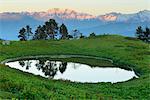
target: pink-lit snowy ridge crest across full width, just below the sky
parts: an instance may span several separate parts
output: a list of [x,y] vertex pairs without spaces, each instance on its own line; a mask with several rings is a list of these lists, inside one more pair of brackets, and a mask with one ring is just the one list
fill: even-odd
[[[148,15],[145,15],[148,14]],[[4,12],[0,13],[0,19],[19,19],[21,15],[31,16],[37,20],[48,20],[50,18],[61,18],[61,19],[99,19],[101,21],[127,21],[133,19],[134,16],[139,17],[139,19],[144,19],[144,21],[150,21],[150,10],[143,10],[133,14],[122,14],[117,12],[110,12],[103,15],[94,16],[88,13],[77,12],[72,9],[59,9],[53,8],[42,12]],[[123,17],[123,18],[121,18]],[[146,17],[146,18],[145,18]],[[138,19],[138,20],[139,20]]]

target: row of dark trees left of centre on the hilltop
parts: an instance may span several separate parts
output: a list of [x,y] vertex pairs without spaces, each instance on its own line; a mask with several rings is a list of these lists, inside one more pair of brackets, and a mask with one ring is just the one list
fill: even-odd
[[84,38],[83,34],[75,29],[72,31],[72,35],[68,33],[68,29],[65,24],[61,24],[58,26],[58,23],[54,19],[49,19],[49,21],[46,21],[44,25],[39,25],[37,29],[35,30],[35,33],[33,33],[32,28],[27,25],[26,27],[23,27],[19,31],[18,38],[21,41],[27,41],[27,40],[48,40],[48,39],[69,39],[69,38]]

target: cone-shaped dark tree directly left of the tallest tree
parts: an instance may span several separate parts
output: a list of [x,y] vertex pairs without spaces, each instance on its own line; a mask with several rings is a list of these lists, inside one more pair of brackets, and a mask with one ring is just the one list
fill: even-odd
[[41,27],[41,25],[39,25],[35,30],[33,40],[46,40],[46,39],[47,39],[47,34],[45,33],[44,28]]

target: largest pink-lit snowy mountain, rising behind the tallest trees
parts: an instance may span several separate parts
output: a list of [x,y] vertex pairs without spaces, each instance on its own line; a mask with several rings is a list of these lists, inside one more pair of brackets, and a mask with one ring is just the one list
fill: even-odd
[[2,20],[5,19],[20,19],[24,16],[30,16],[37,20],[48,20],[50,18],[59,18],[59,19],[93,19],[96,16],[86,14],[86,13],[78,13],[74,10],[70,9],[49,9],[47,12],[21,12],[21,13],[0,13],[0,18]]

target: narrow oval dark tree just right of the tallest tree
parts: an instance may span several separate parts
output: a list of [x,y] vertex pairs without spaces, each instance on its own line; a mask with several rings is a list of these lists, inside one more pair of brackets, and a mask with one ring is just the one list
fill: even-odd
[[62,35],[61,39],[67,39],[68,38],[68,29],[64,24],[62,24],[60,26],[59,33]]

